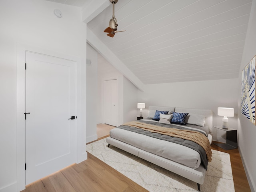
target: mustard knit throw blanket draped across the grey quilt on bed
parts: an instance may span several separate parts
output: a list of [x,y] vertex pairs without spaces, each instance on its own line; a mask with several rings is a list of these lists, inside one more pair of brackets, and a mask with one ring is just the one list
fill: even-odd
[[159,133],[159,134],[168,135],[171,137],[178,137],[185,140],[196,142],[205,150],[208,162],[212,161],[212,150],[211,150],[210,142],[208,138],[200,132],[193,131],[193,130],[180,130],[176,128],[160,127],[160,126],[146,124],[138,121],[126,122],[123,125],[140,128],[146,131],[150,131],[152,133]]

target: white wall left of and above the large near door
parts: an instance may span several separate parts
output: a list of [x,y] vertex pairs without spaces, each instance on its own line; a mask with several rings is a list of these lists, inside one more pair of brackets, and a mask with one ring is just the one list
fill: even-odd
[[[56,8],[62,11],[62,18],[54,15]],[[0,26],[0,192],[14,192],[17,42],[85,60],[86,24],[74,6],[44,0],[1,0]]]

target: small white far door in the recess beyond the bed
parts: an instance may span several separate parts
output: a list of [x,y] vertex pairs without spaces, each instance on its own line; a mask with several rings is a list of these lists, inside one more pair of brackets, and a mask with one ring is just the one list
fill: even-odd
[[118,126],[117,80],[104,81],[104,123]]

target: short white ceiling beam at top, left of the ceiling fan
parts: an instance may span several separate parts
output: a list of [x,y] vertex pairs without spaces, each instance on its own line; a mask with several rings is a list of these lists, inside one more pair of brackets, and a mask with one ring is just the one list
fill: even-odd
[[110,5],[109,0],[91,0],[89,4],[84,4],[82,7],[82,22],[87,24]]

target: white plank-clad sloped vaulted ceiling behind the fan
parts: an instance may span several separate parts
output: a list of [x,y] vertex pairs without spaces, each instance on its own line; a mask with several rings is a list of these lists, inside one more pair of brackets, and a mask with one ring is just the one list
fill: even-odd
[[[51,0],[90,4],[88,0]],[[118,0],[87,27],[144,84],[238,78],[252,0]],[[78,6],[78,5],[75,5]]]

